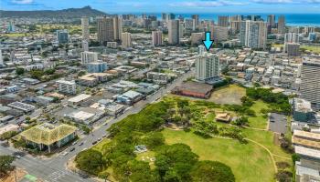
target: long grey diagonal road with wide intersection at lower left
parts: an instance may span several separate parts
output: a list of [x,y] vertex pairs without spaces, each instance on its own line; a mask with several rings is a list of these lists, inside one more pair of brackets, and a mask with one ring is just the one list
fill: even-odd
[[[108,122],[107,125],[103,125],[98,129],[94,130],[91,135],[81,138],[78,141],[78,144],[83,142],[82,146],[71,146],[75,147],[73,152],[70,152],[65,157],[57,156],[51,157],[49,159],[41,159],[37,157],[32,157],[30,155],[24,156],[20,159],[16,159],[14,165],[16,167],[21,167],[27,170],[27,172],[35,177],[41,178],[47,182],[80,182],[80,181],[94,181],[91,178],[83,178],[80,177],[79,174],[73,173],[66,168],[66,164],[70,158],[75,157],[80,151],[85,148],[90,148],[92,146],[92,142],[96,141],[98,138],[102,138],[102,136],[107,135],[106,129],[108,129],[112,124],[121,121],[124,117],[132,115],[134,113],[138,113],[141,111],[144,106],[149,103],[155,102],[162,96],[172,90],[175,86],[181,84],[187,77],[192,76],[192,71],[188,72],[183,76],[179,76],[172,83],[167,85],[166,87],[162,87],[155,95],[148,96],[145,100],[142,100],[132,106],[129,110],[127,110],[122,116],[118,116],[117,118],[113,118]],[[69,147],[69,148],[71,148]],[[69,151],[69,148],[66,151]],[[0,153],[5,155],[13,155],[15,152],[19,152],[13,147],[4,147],[0,145]]]

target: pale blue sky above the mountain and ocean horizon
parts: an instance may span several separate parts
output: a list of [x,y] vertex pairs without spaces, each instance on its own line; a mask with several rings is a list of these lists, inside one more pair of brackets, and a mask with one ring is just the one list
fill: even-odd
[[106,13],[320,14],[320,0],[0,0],[3,10],[57,10],[85,5]]

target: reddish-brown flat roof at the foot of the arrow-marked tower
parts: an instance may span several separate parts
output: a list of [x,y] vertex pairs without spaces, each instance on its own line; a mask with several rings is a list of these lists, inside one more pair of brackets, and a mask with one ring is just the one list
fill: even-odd
[[181,86],[177,86],[179,90],[185,90],[189,92],[207,94],[213,89],[213,86],[208,84],[202,84],[197,82],[184,82]]

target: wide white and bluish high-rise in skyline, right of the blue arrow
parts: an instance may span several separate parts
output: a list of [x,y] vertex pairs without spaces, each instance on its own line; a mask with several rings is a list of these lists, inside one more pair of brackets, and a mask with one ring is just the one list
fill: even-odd
[[267,25],[261,21],[242,21],[240,27],[240,44],[251,48],[265,48]]

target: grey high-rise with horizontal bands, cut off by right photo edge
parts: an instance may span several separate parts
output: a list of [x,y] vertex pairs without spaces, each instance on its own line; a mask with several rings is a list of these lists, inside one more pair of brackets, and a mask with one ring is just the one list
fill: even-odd
[[304,61],[301,70],[301,97],[320,106],[320,62]]

